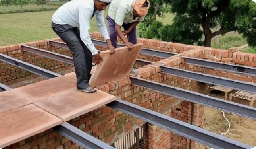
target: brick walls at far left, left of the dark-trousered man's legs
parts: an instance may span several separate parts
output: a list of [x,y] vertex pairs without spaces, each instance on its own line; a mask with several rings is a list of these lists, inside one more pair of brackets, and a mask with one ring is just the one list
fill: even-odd
[[[48,40],[25,43],[25,45],[45,49],[63,55],[71,55],[67,49],[50,46]],[[22,51],[20,45],[0,47],[0,53],[60,74],[66,74],[74,71],[73,65],[65,64],[63,62],[51,60],[40,55]],[[0,61],[0,82],[3,84],[6,84],[12,88],[17,88],[42,80],[45,79],[37,76],[36,74],[32,74],[31,72]]]

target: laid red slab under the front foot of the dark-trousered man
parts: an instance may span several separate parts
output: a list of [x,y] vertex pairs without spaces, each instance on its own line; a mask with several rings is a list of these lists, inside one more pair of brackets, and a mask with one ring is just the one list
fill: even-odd
[[35,101],[34,105],[68,121],[116,100],[117,97],[97,90],[84,93],[75,88],[61,90],[47,99]]

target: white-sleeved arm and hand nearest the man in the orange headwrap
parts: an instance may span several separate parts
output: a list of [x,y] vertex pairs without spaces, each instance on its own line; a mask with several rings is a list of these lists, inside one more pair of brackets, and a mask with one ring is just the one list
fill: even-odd
[[114,53],[115,48],[110,41],[110,38],[108,35],[108,30],[107,30],[106,24],[104,22],[104,10],[102,10],[96,14],[96,21],[97,21],[97,26],[100,29],[101,34],[103,35],[104,39],[108,43],[108,49],[110,50],[110,53],[111,54]]

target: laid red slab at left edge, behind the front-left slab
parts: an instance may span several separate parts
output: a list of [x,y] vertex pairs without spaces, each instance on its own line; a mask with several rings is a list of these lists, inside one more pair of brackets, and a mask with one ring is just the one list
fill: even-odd
[[33,99],[25,96],[18,88],[0,92],[0,113],[28,105],[32,102]]

